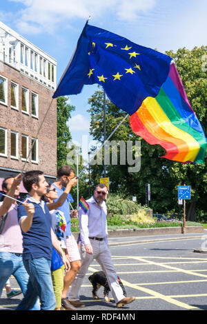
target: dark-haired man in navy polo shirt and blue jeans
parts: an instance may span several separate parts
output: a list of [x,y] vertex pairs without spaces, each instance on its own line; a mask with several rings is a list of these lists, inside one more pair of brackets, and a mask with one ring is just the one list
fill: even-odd
[[29,310],[39,296],[41,310],[55,310],[56,300],[51,278],[52,246],[61,255],[68,269],[70,263],[52,230],[52,219],[41,196],[48,183],[43,172],[29,171],[23,175],[28,198],[18,207],[18,218],[23,233],[23,263],[30,276],[27,292],[17,310]]

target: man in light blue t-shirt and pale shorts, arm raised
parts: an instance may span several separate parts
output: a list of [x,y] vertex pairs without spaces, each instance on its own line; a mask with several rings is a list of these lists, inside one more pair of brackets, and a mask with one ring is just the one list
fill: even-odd
[[[57,171],[57,181],[52,183],[52,186],[57,189],[58,197],[63,194],[64,188],[70,181],[75,177],[74,170],[70,167],[70,165],[63,165]],[[72,188],[72,186],[71,186]],[[57,201],[57,200],[55,200]],[[70,224],[70,216],[77,217],[77,210],[72,210],[70,212],[70,195],[68,195],[66,201],[60,207],[57,207],[58,210],[63,212],[66,218],[66,249],[69,256],[70,261],[70,270],[68,270],[64,276],[63,281],[63,291],[62,291],[62,298],[61,298],[61,305],[66,310],[76,310],[75,307],[83,307],[84,304],[80,301],[71,301],[69,302],[67,299],[68,288],[70,287],[72,281],[74,281],[76,274],[79,272],[79,268],[81,267],[81,256],[79,254],[79,248],[77,246],[77,242],[75,241],[74,236],[71,232],[71,224]]]

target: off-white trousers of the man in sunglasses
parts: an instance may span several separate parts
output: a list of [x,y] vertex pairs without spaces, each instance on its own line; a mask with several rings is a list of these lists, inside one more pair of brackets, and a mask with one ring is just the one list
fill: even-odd
[[92,245],[93,254],[86,253],[84,245],[81,244],[82,265],[77,276],[75,277],[75,280],[70,286],[68,299],[69,301],[79,300],[79,290],[81,288],[81,284],[83,283],[83,278],[90,263],[92,263],[92,260],[95,259],[99,265],[101,265],[103,272],[105,272],[112,296],[115,299],[115,302],[118,303],[118,301],[121,301],[121,299],[125,298],[125,296],[119,282],[117,281],[117,274],[115,272],[115,267],[112,264],[108,245],[106,245],[105,241],[97,241],[92,239],[90,239],[90,244]]

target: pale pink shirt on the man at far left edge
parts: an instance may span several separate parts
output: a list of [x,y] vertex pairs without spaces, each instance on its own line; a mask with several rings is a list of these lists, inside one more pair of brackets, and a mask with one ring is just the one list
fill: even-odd
[[[0,206],[2,203],[3,201],[0,202]],[[22,243],[21,228],[17,219],[17,205],[12,203],[3,232],[0,234],[0,252],[23,253]]]

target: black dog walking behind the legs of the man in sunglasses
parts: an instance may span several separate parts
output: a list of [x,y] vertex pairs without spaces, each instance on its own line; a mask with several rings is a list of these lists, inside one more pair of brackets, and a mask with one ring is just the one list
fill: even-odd
[[[123,283],[121,283],[121,280],[118,278],[119,281],[119,285],[121,286],[124,296],[126,296],[126,290],[124,288]],[[104,287],[103,290],[103,296],[105,298],[105,301],[110,301],[110,298],[108,298],[108,293],[110,292],[110,287],[108,285],[108,281],[106,278],[106,274],[103,271],[97,271],[94,274],[92,274],[91,276],[88,277],[88,280],[92,283],[92,298],[93,299],[99,299],[99,296],[97,296],[97,290],[99,290],[99,288],[101,286]]]

